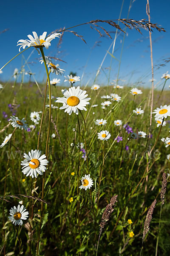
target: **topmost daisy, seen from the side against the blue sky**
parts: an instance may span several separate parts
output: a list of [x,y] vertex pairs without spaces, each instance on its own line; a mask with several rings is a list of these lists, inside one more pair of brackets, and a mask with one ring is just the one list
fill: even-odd
[[[32,32],[33,35],[34,35],[34,38],[32,35],[28,35],[28,39],[26,40],[23,40],[23,39],[20,39],[18,42],[17,42],[17,46],[20,45],[20,48],[23,47],[23,49],[26,48],[26,46],[30,47],[30,46],[34,46],[36,48],[40,48],[40,47],[45,47],[46,49],[48,49],[49,46],[51,46],[50,42],[56,38],[56,37],[60,37],[60,33],[54,33],[50,36],[48,36],[46,39],[46,35],[47,35],[47,32],[43,32],[42,35],[40,35],[40,37],[38,37],[37,33],[36,32]],[[20,44],[18,44],[20,43]],[[20,52],[20,49],[19,49],[19,52]]]

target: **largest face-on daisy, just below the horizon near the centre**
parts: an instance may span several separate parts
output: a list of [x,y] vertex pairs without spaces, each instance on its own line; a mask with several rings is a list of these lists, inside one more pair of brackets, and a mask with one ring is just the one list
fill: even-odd
[[63,106],[59,109],[65,109],[64,112],[67,112],[69,115],[71,115],[72,111],[78,115],[78,109],[87,111],[85,106],[89,104],[88,100],[91,99],[86,98],[88,94],[85,93],[86,91],[81,90],[79,86],[77,88],[71,87],[68,90],[62,90],[62,94],[65,97],[57,97],[55,102],[62,103]]

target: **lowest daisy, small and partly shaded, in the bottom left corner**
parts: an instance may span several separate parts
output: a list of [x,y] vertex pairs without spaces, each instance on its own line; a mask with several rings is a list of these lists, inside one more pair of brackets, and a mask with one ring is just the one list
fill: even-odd
[[9,210],[9,216],[8,218],[10,221],[12,221],[12,224],[15,224],[15,226],[18,225],[23,225],[22,220],[26,220],[28,218],[28,212],[26,212],[26,207],[23,205],[20,207],[20,204],[18,204],[17,208],[14,206],[14,208],[11,207]]

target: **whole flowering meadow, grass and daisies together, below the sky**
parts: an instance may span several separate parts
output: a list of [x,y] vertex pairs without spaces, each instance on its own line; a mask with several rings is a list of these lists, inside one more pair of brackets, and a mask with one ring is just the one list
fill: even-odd
[[39,48],[46,84],[16,73],[0,89],[0,255],[169,255],[170,91],[54,86],[41,37],[20,45]]

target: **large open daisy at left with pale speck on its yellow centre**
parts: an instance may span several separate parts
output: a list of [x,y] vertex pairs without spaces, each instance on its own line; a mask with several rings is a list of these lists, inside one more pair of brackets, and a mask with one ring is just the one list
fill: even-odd
[[23,166],[23,174],[26,176],[32,176],[32,178],[36,177],[37,174],[42,175],[43,172],[47,169],[45,166],[48,164],[48,160],[46,160],[45,154],[41,156],[40,150],[31,150],[28,154],[24,153],[24,159],[21,161],[21,165]]

